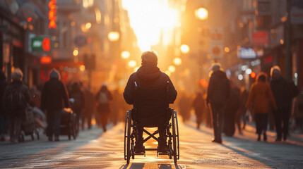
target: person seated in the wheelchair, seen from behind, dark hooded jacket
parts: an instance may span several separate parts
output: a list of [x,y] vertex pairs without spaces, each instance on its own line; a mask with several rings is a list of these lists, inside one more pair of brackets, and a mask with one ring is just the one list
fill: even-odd
[[135,151],[144,151],[143,127],[158,127],[158,151],[167,152],[168,108],[169,104],[174,103],[177,91],[170,77],[158,68],[158,54],[155,51],[143,52],[141,61],[141,67],[129,77],[123,94],[126,103],[134,107]]

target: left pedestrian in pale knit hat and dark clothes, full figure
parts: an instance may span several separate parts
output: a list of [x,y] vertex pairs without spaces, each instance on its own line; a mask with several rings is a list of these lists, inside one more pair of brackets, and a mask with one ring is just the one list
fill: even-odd
[[60,80],[58,70],[53,68],[49,81],[45,82],[41,95],[41,110],[47,114],[47,136],[49,141],[59,141],[61,111],[69,108],[69,96],[66,87]]

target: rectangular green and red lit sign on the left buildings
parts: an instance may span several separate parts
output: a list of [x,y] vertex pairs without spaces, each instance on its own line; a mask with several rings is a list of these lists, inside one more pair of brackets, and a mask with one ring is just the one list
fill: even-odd
[[32,51],[50,51],[51,40],[49,37],[32,38]]

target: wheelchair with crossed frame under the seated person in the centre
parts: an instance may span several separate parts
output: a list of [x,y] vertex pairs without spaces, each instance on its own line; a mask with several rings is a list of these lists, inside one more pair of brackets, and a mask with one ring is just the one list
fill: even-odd
[[[135,82],[136,84],[136,82]],[[136,92],[138,91],[137,88]],[[166,89],[166,93],[168,92],[168,87]],[[154,93],[153,91],[151,93]],[[138,96],[138,94],[136,94]],[[145,96],[146,97],[146,96]],[[142,100],[143,97],[141,97]],[[138,97],[136,97],[136,100]],[[167,97],[168,101],[168,97]],[[136,101],[135,101],[136,102]],[[168,103],[168,102],[167,102]],[[178,118],[177,118],[177,112],[174,111],[172,108],[169,108],[169,104],[166,104],[166,112],[167,112],[167,118],[166,123],[163,125],[165,127],[165,137],[168,144],[169,151],[162,152],[159,151],[158,148],[153,149],[146,149],[144,146],[144,151],[137,153],[135,152],[135,138],[136,138],[136,127],[138,126],[138,120],[136,117],[137,108],[136,104],[133,104],[133,108],[131,108],[129,111],[126,112],[126,118],[125,118],[125,127],[124,127],[124,160],[126,160],[126,163],[129,164],[130,159],[134,159],[136,155],[144,155],[145,151],[157,151],[158,155],[168,155],[170,159],[174,158],[174,163],[177,164],[177,160],[179,160],[179,128],[178,128]],[[145,127],[158,127],[158,126],[146,126],[141,125],[143,127],[143,133],[148,134],[148,137],[143,138],[143,144],[147,142],[149,139],[153,138],[156,141],[158,141],[158,138],[155,137],[155,134],[159,133],[159,129],[156,130],[153,133],[148,132],[145,130]]]

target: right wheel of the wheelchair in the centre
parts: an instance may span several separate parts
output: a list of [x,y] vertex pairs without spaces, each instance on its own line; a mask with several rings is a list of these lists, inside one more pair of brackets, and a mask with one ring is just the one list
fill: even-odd
[[179,129],[176,111],[172,111],[172,146],[174,163],[177,164],[177,160],[179,160]]

